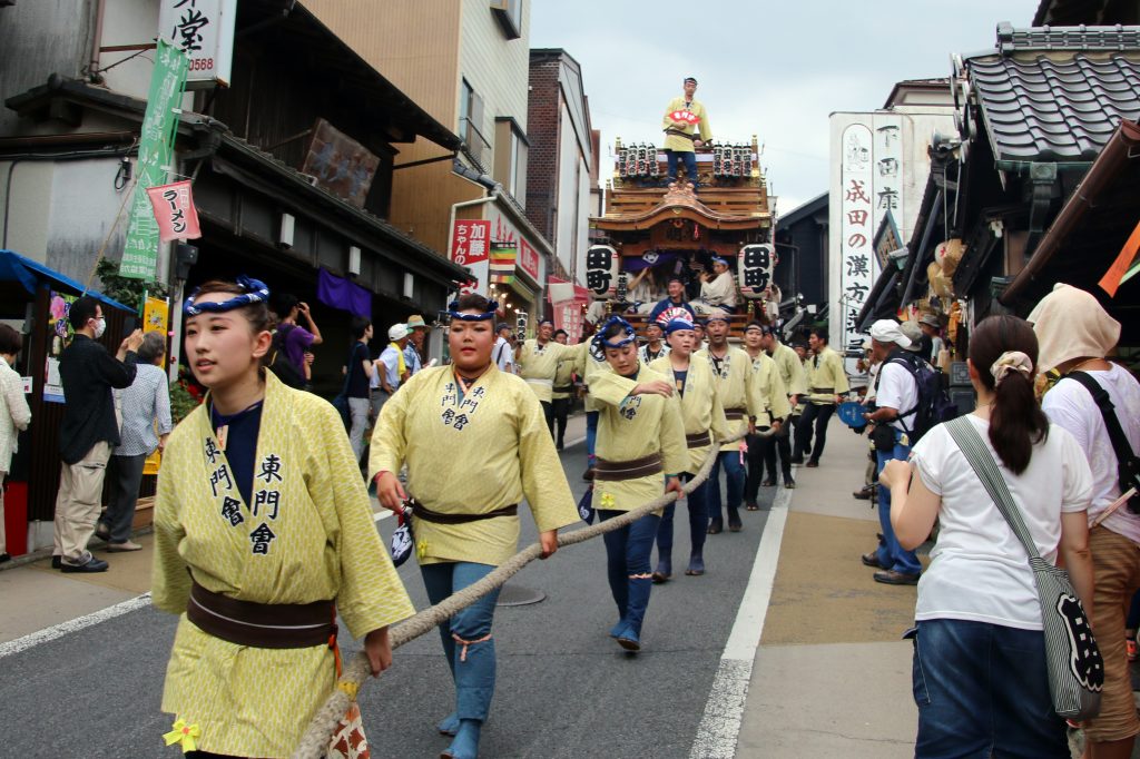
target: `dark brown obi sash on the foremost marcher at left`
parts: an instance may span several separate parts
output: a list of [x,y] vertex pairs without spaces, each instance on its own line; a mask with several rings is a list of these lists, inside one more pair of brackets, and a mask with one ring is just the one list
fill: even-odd
[[309,648],[336,640],[336,607],[332,601],[258,604],[194,582],[186,619],[215,638],[254,648]]

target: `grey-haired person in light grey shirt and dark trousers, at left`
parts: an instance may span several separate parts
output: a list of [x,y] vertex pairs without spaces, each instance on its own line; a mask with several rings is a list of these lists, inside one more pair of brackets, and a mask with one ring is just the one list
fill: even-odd
[[174,429],[170,421],[170,385],[166,373],[160,368],[165,354],[165,337],[161,333],[148,332],[139,346],[135,382],[115,391],[115,406],[123,416],[121,442],[112,458],[115,479],[111,504],[95,530],[96,536],[107,541],[108,552],[138,550],[142,547],[131,540],[142,467],[155,449],[166,447],[166,435]]

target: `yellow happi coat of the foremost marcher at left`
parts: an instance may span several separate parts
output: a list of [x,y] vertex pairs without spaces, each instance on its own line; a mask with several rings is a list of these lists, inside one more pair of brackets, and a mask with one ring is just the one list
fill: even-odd
[[184,613],[187,570],[205,589],[239,601],[332,598],[356,638],[415,609],[376,532],[340,416],[272,373],[252,492],[251,509],[203,403],[171,433],[155,499],[154,605],[181,614],[162,710],[197,725],[203,751],[288,757],[335,686],[333,651],[253,648],[202,631]]

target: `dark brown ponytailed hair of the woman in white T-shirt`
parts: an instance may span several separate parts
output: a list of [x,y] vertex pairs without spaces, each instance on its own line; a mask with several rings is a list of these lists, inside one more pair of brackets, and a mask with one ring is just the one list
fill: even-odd
[[[999,382],[991,367],[1011,351],[1025,353],[1034,369],[1005,372]],[[970,340],[970,362],[982,384],[994,393],[990,411],[990,442],[1005,467],[1021,474],[1029,466],[1033,446],[1049,435],[1049,419],[1037,406],[1033,392],[1037,337],[1023,319],[990,317],[978,325]]]

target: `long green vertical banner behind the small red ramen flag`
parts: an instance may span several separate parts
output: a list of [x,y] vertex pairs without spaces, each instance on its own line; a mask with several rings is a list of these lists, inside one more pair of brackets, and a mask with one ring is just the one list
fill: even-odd
[[127,245],[119,264],[119,274],[123,277],[153,281],[158,269],[158,222],[146,190],[165,185],[172,168],[174,133],[178,131],[174,109],[181,106],[188,68],[186,54],[160,39],[139,138],[138,183],[131,202]]

